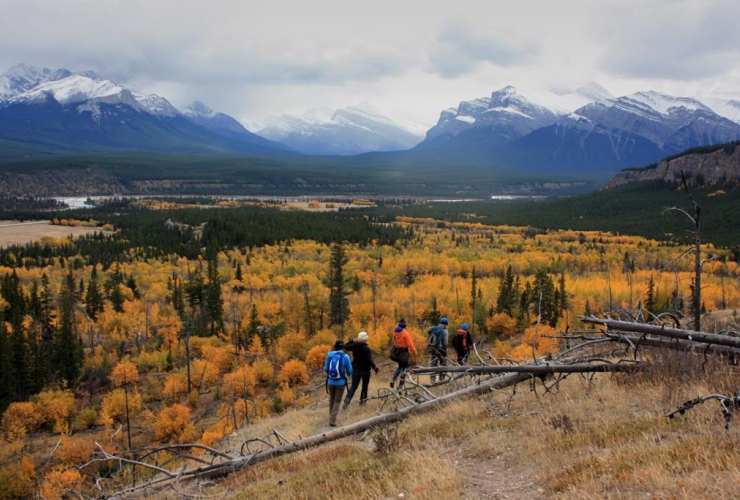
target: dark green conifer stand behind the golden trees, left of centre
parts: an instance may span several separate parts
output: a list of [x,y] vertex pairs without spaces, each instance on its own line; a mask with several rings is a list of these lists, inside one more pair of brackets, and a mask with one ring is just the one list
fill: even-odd
[[[115,234],[81,236],[73,245],[50,246],[39,242],[0,251],[1,265],[44,265],[52,257],[65,259],[82,255],[104,268],[114,262],[136,258],[161,258],[180,255],[194,258],[228,248],[253,248],[282,242],[310,239],[320,243],[344,240],[351,243],[392,245],[410,238],[406,229],[376,224],[358,211],[308,213],[245,207],[236,209],[148,210],[130,200],[113,200],[99,208],[62,212],[33,212],[36,218],[95,219],[111,224]],[[32,218],[32,217],[29,217]],[[167,221],[180,224],[167,228]],[[202,235],[195,228],[203,225]]]

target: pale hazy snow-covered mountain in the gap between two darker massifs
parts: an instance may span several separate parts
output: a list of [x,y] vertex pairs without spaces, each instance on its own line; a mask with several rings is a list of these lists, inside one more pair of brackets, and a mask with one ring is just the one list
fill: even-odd
[[363,102],[337,110],[313,109],[301,116],[281,115],[257,133],[295,151],[314,155],[352,155],[408,149],[424,130],[408,117],[391,118]]

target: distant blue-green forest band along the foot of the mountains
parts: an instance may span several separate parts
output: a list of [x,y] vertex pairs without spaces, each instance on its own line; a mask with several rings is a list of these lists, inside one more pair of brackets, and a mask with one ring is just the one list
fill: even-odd
[[[110,176],[126,192],[187,194],[371,194],[399,196],[488,196],[505,186],[526,185],[550,193],[547,182],[565,183],[558,192],[585,192],[604,179],[576,180],[498,168],[486,164],[450,165],[383,155],[247,157],[167,153],[127,153],[0,161],[0,174],[94,171]],[[454,173],[454,174],[453,174]],[[162,182],[161,181],[175,181]],[[112,193],[83,193],[112,194]]]

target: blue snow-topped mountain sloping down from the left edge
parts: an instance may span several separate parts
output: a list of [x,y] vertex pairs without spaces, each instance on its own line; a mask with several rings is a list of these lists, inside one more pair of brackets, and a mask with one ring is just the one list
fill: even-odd
[[[200,105],[178,111],[94,72],[18,65],[0,76],[0,140],[12,151],[210,151],[284,154],[285,146]],[[0,154],[3,152],[0,151]]]

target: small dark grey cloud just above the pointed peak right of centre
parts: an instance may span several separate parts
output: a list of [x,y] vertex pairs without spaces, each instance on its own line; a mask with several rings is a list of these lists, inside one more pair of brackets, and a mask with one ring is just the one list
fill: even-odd
[[540,54],[534,42],[522,43],[500,34],[476,34],[463,27],[447,27],[440,33],[429,54],[431,70],[445,78],[474,72],[476,64],[514,66]]

